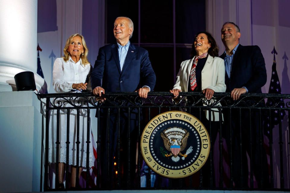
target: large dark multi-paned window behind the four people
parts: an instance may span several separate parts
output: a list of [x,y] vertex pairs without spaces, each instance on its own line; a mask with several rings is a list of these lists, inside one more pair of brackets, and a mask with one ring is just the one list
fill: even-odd
[[130,42],[149,52],[156,73],[154,91],[172,89],[181,62],[189,59],[195,34],[205,31],[205,1],[106,1],[106,10],[106,43],[116,43],[116,17],[129,17],[134,23]]

